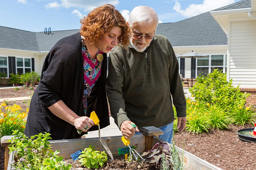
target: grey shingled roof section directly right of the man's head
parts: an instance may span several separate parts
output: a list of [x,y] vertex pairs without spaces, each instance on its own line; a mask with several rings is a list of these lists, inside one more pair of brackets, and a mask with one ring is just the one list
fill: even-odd
[[206,12],[177,23],[162,23],[157,34],[164,35],[172,46],[227,45],[227,35]]

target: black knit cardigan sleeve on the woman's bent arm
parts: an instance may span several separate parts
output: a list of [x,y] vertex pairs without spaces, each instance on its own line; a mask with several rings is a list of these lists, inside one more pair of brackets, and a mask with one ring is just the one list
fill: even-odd
[[61,91],[72,85],[70,79],[78,67],[78,52],[74,45],[64,43],[56,44],[47,55],[38,85],[38,97],[45,107],[61,100]]

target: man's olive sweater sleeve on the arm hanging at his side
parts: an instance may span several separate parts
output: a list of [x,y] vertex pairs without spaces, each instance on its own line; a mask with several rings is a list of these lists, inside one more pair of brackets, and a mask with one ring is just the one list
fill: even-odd
[[172,94],[173,104],[177,111],[177,117],[184,117],[186,116],[186,99],[183,91],[182,82],[180,79],[179,63],[170,42],[169,42],[169,48],[170,48],[170,68],[169,68],[170,92]]

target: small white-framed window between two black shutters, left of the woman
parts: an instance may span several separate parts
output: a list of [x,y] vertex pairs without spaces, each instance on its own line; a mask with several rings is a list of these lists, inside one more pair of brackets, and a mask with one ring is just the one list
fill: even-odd
[[25,74],[31,72],[31,58],[16,58],[17,74]]

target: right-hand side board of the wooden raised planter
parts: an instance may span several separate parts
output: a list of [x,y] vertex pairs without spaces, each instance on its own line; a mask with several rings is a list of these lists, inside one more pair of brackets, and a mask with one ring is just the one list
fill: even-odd
[[[165,142],[165,141],[163,141],[162,139],[160,139],[158,137],[153,136],[152,147],[157,142]],[[171,146],[171,144],[169,144],[169,145]],[[183,154],[183,161],[184,161],[184,164],[186,164],[185,170],[222,170],[221,168],[216,167],[215,165],[210,164],[209,162],[204,161],[203,159],[198,158],[197,156],[195,156],[179,147],[177,147],[177,149],[179,150],[180,158]]]

